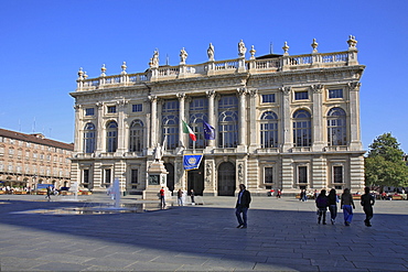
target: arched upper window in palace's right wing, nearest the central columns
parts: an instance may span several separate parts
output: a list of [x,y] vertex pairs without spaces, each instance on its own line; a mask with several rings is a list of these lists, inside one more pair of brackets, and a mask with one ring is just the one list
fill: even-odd
[[273,111],[260,117],[260,145],[262,149],[278,146],[278,116]]

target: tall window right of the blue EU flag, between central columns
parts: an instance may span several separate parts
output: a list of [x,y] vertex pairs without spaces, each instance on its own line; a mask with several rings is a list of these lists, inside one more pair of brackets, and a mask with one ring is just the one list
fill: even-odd
[[238,99],[225,96],[218,102],[218,146],[236,148],[238,144]]

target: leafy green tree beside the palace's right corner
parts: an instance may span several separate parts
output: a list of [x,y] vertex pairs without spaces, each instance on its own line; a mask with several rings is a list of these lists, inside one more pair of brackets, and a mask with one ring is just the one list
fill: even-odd
[[377,137],[368,146],[365,157],[367,186],[407,186],[408,166],[402,161],[404,151],[391,133]]

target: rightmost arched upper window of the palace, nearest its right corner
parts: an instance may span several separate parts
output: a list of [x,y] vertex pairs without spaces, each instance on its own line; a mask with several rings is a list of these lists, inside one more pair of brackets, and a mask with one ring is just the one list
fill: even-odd
[[347,130],[346,116],[342,108],[332,108],[328,113],[329,145],[346,145]]

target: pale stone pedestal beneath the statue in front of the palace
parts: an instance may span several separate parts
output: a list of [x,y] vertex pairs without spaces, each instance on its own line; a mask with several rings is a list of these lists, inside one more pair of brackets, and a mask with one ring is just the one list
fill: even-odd
[[[149,168],[143,191],[143,199],[159,199],[159,192],[162,187],[167,191],[169,172],[165,170],[163,161],[154,160]],[[168,192],[167,192],[168,193]]]

